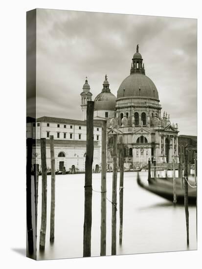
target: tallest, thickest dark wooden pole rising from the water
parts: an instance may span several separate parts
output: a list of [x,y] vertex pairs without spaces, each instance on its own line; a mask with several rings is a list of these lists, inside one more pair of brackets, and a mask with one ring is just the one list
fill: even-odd
[[84,240],[83,256],[91,255],[91,225],[92,225],[92,161],[93,161],[93,110],[94,102],[87,103],[87,139],[85,162],[85,202],[84,202]]

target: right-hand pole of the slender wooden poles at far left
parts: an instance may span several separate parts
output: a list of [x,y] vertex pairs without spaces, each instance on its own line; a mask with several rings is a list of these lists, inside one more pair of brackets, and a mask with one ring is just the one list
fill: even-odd
[[50,203],[50,242],[55,238],[55,153],[54,136],[50,135],[50,160],[51,160],[51,203]]

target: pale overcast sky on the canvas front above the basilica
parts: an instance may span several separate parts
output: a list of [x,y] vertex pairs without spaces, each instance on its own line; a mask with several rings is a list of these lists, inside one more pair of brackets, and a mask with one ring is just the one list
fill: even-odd
[[105,74],[114,95],[130,74],[136,45],[163,111],[180,134],[197,134],[197,21],[37,10],[37,117],[81,119],[86,76],[92,98]]

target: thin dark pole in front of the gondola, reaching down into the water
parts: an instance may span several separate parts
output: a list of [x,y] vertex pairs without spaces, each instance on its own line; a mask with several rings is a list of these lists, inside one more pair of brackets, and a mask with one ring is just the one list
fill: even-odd
[[187,246],[189,245],[189,204],[188,204],[188,163],[186,147],[184,149],[184,208],[186,216]]

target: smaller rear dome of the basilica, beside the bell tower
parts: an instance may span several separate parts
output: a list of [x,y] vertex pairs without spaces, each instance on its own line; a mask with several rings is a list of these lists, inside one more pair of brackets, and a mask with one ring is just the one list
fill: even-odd
[[94,110],[114,110],[116,105],[116,96],[110,91],[102,91],[94,101]]

